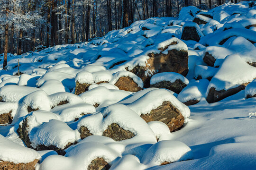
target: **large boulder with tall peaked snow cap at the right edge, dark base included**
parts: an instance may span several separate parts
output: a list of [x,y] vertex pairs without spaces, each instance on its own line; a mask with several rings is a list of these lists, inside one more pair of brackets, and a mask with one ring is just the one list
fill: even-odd
[[256,78],[256,68],[247,64],[238,55],[225,58],[208,86],[206,100],[218,102],[238,93]]

